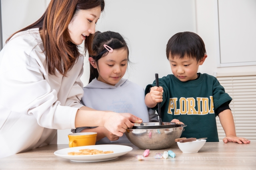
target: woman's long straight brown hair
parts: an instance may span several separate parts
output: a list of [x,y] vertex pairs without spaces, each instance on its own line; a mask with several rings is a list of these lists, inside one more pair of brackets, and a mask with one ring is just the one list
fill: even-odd
[[[104,0],[51,0],[39,20],[12,34],[6,43],[16,33],[39,28],[42,31],[41,36],[46,51],[48,73],[56,75],[55,69],[57,69],[60,74],[65,76],[80,56],[78,46],[69,41],[68,24],[79,10],[101,7],[101,11],[103,11],[104,6]],[[89,54],[94,53],[92,51],[92,36],[90,34],[84,42],[85,52],[88,51]]]

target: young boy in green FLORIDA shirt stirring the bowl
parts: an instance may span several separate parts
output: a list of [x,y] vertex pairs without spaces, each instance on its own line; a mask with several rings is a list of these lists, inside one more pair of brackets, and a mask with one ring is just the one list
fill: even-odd
[[229,107],[232,98],[214,76],[197,73],[207,57],[201,37],[192,32],[176,33],[166,45],[166,56],[173,74],[159,78],[159,87],[155,81],[146,87],[146,106],[157,110],[157,103],[161,102],[163,122],[188,125],[181,137],[207,137],[207,142],[219,142],[215,119],[218,115],[226,133],[224,143],[250,143],[236,137]]

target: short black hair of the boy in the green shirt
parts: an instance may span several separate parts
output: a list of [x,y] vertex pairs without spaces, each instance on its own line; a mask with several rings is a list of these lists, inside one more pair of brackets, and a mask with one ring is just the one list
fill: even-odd
[[195,59],[197,63],[204,57],[206,50],[204,41],[196,33],[189,31],[173,35],[166,45],[166,57],[183,59],[185,55]]

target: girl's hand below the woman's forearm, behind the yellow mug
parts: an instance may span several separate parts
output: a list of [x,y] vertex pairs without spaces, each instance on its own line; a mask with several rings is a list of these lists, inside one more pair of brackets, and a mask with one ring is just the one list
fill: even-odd
[[119,139],[118,136],[112,134],[105,127],[100,127],[100,126],[93,129],[84,129],[81,132],[96,132],[97,133],[96,141],[99,141],[104,137],[107,137],[110,141],[116,141]]

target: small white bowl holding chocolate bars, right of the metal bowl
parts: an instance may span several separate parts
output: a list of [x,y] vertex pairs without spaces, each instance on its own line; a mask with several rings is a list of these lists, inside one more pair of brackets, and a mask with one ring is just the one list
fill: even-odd
[[196,141],[192,142],[177,142],[177,144],[183,153],[197,153],[198,150],[200,150],[204,146],[205,142],[205,139],[197,139]]

